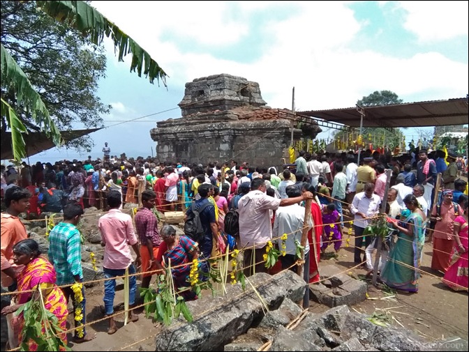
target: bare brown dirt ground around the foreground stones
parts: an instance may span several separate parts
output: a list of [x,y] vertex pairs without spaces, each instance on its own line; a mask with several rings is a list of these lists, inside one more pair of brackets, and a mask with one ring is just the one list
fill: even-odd
[[[422,269],[430,272],[431,244],[425,245],[424,254]],[[339,252],[339,257],[322,260],[320,265],[332,263],[355,277],[363,277],[366,274],[362,269],[347,271],[354,266],[352,248],[343,248]],[[373,312],[382,313],[384,311],[380,309],[387,308],[393,325],[398,326],[400,323],[429,340],[454,336],[468,339],[468,293],[448,289],[438,277],[423,275],[419,282],[419,293],[408,294],[399,291],[395,293],[394,298],[383,300],[385,293],[369,285],[368,296],[371,299],[350,308],[370,315]],[[121,302],[123,302],[122,290],[117,291],[114,305]],[[102,287],[88,289],[88,321],[103,317],[100,306],[103,306]],[[311,301],[310,309],[313,312],[324,312],[329,307]],[[107,335],[107,322],[95,323],[89,330],[96,331],[96,339],[83,344],[70,342],[70,346],[73,351],[154,351],[154,335],[158,333],[160,327],[150,319],[146,319],[143,313],[140,314],[139,321],[129,323],[125,327],[123,316],[118,316],[117,326],[119,330],[114,335]]]

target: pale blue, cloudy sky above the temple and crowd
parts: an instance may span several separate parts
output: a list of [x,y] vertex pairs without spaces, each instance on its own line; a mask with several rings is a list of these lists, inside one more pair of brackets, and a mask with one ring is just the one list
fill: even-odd
[[[110,126],[90,136],[91,155],[155,155],[149,130],[179,118],[184,85],[228,73],[258,82],[273,108],[353,107],[373,91],[404,102],[468,93],[468,1],[91,1],[168,74],[168,88],[130,73],[110,41],[98,95]],[[169,111],[167,111],[169,110]],[[140,118],[142,116],[149,116]],[[133,122],[130,121],[135,118]],[[76,128],[81,128],[77,125]],[[414,129],[405,130],[407,140]],[[327,137],[325,130],[319,137]],[[332,135],[332,131],[331,131]],[[57,148],[30,158],[86,158]]]

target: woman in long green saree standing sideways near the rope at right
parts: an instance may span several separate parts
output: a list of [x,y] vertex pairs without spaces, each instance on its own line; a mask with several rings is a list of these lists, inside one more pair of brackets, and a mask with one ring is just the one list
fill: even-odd
[[422,224],[424,215],[415,196],[409,194],[403,201],[410,215],[401,222],[393,222],[393,227],[399,233],[380,278],[393,289],[417,292],[420,258],[425,241]]

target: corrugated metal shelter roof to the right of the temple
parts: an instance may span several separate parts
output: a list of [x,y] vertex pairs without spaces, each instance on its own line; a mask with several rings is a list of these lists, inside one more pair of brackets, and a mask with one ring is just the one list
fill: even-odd
[[[468,123],[468,98],[364,107],[364,111],[364,127],[398,128],[463,125]],[[297,114],[343,123],[350,127],[360,126],[361,115],[357,107],[311,110],[297,112]]]

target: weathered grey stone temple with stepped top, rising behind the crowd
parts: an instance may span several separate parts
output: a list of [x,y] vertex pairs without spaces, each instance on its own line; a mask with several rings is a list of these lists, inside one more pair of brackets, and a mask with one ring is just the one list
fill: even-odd
[[321,132],[316,123],[300,122],[288,109],[268,107],[258,83],[227,74],[186,83],[179,107],[181,118],[158,122],[150,130],[160,161],[236,160],[279,166],[284,164],[292,127],[295,140],[313,139]]

